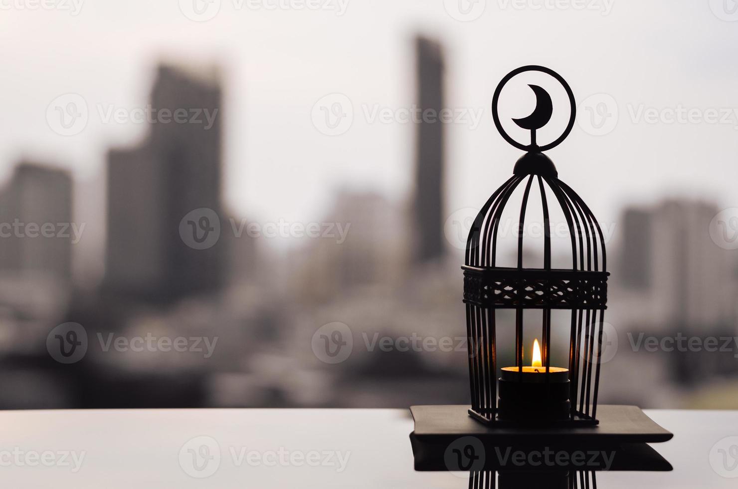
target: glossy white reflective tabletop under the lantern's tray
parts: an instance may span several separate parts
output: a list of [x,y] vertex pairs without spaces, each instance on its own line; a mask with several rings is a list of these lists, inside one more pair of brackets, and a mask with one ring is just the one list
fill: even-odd
[[[733,460],[730,451],[738,452],[738,438],[726,438],[738,436],[738,411],[646,412],[675,434],[654,445],[675,471],[599,473],[599,488],[738,487],[738,478],[718,473],[738,477],[738,453]],[[465,473],[413,471],[413,420],[400,409],[2,411],[0,420],[5,487],[466,488],[467,481]]]

